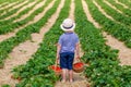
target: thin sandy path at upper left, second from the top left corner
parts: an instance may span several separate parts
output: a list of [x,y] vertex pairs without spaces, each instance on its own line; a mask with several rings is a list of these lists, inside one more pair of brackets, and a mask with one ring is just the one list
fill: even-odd
[[27,9],[27,8],[32,7],[32,5],[34,5],[36,2],[37,2],[37,1],[29,2],[27,5],[24,5],[23,8],[21,8],[16,13],[14,13],[14,14],[11,15],[11,16],[5,17],[4,20],[9,20],[9,18],[11,18],[11,17],[16,16],[20,12],[22,12],[22,11],[24,11],[25,9]]

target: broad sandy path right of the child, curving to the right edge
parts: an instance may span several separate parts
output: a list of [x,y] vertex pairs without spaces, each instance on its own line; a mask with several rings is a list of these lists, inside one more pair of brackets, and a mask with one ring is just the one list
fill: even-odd
[[[83,0],[82,0],[83,1]],[[94,24],[95,27],[100,28],[100,25],[95,22],[95,20],[92,17],[87,4],[85,1],[83,1],[83,9],[86,13],[86,16],[91,23]],[[118,49],[119,50],[119,59],[120,59],[120,64],[121,65],[131,65],[131,49],[127,48],[123,42],[117,40],[114,38],[111,35],[107,35],[107,33],[103,32],[103,35],[107,39],[106,45],[110,46],[112,49]]]

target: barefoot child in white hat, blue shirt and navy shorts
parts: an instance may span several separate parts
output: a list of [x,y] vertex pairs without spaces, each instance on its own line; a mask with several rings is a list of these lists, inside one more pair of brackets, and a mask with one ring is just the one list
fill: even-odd
[[79,54],[79,37],[74,33],[75,23],[72,20],[66,18],[60,25],[64,32],[59,38],[57,46],[57,60],[60,60],[60,67],[62,69],[62,79],[66,82],[66,76],[69,74],[69,82],[73,82],[72,64],[74,60],[74,52],[76,52],[76,59],[80,59]]

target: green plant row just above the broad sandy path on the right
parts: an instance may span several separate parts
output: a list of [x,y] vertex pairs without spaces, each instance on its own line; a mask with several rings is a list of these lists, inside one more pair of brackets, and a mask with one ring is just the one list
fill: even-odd
[[127,47],[131,48],[131,29],[106,17],[93,1],[88,1],[88,4],[92,16],[103,26],[102,29],[123,41]]

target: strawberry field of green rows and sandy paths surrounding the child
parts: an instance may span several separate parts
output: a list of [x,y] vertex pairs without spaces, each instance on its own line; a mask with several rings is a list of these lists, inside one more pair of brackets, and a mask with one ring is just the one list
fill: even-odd
[[[73,83],[48,69],[67,17],[85,63]],[[131,87],[131,0],[0,0],[0,87]]]

